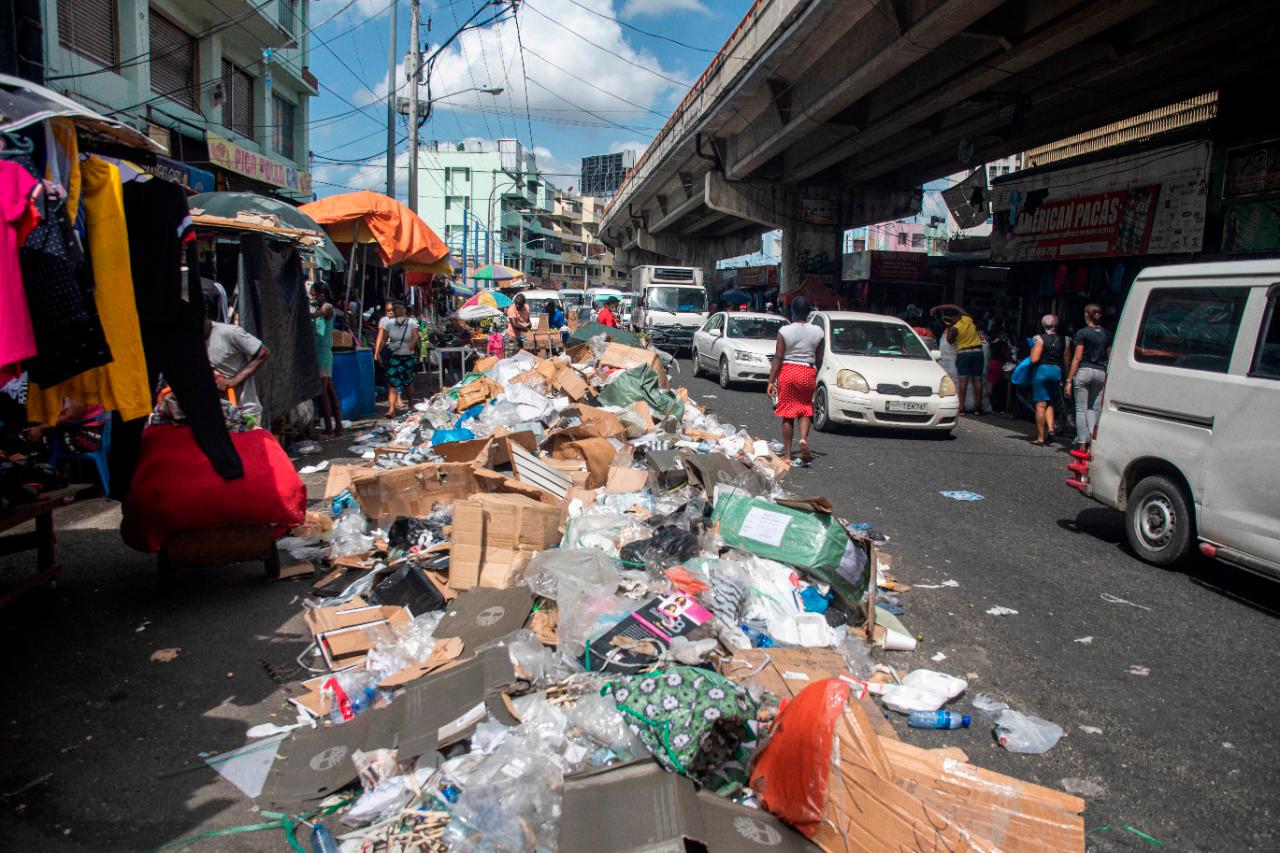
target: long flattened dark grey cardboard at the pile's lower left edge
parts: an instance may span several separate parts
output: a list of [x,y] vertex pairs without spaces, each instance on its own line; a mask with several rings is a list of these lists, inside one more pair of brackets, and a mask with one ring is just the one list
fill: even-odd
[[401,761],[412,761],[466,736],[484,719],[486,699],[515,680],[507,649],[495,647],[408,684],[389,706],[342,725],[298,729],[280,743],[259,802],[306,811],[298,807],[355,781],[356,749],[396,748]]

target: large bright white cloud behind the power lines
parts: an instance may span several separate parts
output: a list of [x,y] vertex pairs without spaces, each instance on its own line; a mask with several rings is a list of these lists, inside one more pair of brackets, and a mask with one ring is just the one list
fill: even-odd
[[[663,113],[673,93],[675,100],[684,93],[682,86],[663,77],[684,79],[686,76],[664,68],[652,53],[623,38],[612,0],[579,3],[581,5],[568,0],[539,0],[536,6],[522,8],[518,40],[511,19],[462,33],[435,63],[431,91],[435,97],[445,96],[436,101],[436,109],[454,106],[463,111],[509,113],[513,115],[502,117],[499,124],[515,124],[521,136],[526,97],[535,120],[622,126],[644,128],[639,132],[645,133],[660,127],[663,115],[645,110]],[[443,19],[436,22],[435,31],[449,32]],[[520,41],[526,47],[524,68]],[[525,72],[532,81],[527,91]],[[398,69],[397,88],[402,82],[403,69]],[[466,91],[477,87],[502,87],[504,91],[497,96]],[[361,87],[352,91],[352,102],[366,105],[385,100],[387,88],[384,74],[374,86],[376,96]],[[422,93],[425,96],[425,90]]]

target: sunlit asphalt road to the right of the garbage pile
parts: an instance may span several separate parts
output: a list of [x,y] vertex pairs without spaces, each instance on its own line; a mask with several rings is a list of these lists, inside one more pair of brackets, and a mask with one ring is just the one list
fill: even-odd
[[[723,420],[780,437],[763,387],[724,391],[687,370],[681,382]],[[902,620],[924,639],[879,660],[968,679],[954,710],[986,692],[1066,736],[1018,756],[977,720],[920,731],[893,715],[895,727],[1020,779],[1083,780],[1088,827],[1128,824],[1175,850],[1277,849],[1280,587],[1203,560],[1181,571],[1140,562],[1121,514],[1064,485],[1066,451],[1032,446],[1033,432],[996,416],[961,419],[951,438],[815,433],[814,466],[786,478],[890,537],[899,581],[959,583],[902,593]],[[986,500],[940,494],[955,489]],[[1018,613],[988,615],[996,606]],[[946,660],[932,661],[938,652]],[[1155,849],[1124,830],[1091,833],[1089,845]]]

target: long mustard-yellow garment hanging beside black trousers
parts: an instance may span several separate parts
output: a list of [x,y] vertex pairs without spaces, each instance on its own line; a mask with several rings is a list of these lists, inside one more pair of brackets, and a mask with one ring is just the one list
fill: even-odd
[[63,397],[100,403],[122,420],[151,414],[147,362],[133,300],[128,232],[119,172],[99,158],[81,163],[81,195],[88,229],[87,255],[93,277],[93,302],[111,350],[110,364],[87,370],[51,388],[31,383],[28,416],[54,424]]

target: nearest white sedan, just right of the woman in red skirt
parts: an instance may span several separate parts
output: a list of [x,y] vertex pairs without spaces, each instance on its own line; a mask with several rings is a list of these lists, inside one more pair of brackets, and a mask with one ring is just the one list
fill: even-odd
[[960,402],[955,380],[910,325],[895,316],[818,311],[826,336],[813,425],[900,426],[950,432]]

